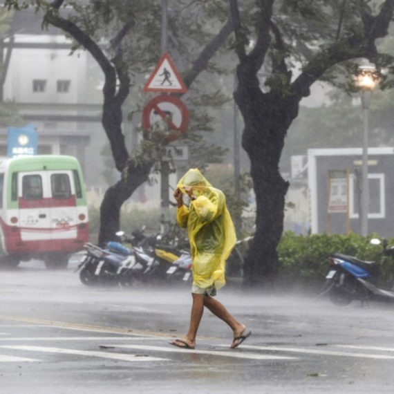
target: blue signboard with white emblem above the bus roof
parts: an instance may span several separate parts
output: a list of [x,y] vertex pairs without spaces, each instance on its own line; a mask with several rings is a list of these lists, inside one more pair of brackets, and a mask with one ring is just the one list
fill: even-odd
[[20,156],[37,155],[38,136],[32,124],[21,127],[8,127],[8,149],[9,158]]

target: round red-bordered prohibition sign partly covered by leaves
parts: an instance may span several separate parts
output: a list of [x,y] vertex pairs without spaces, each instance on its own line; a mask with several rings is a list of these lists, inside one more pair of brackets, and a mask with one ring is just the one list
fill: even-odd
[[[171,114],[171,116],[169,116]],[[160,95],[154,97],[145,106],[142,112],[142,127],[144,130],[149,130],[156,118],[158,120],[165,120],[169,128],[173,130],[171,133],[167,133],[163,140],[165,142],[171,142],[181,135],[186,133],[187,123],[189,122],[189,112],[178,97],[173,95]]]

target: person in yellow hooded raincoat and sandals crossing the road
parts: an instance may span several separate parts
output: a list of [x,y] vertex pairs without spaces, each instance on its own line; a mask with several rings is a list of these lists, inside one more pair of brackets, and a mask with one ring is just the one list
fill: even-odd
[[[190,198],[189,208],[183,204],[183,194]],[[225,261],[236,242],[232,219],[225,195],[215,189],[198,169],[189,169],[173,194],[178,203],[178,225],[187,228],[193,272],[190,326],[182,339],[169,342],[179,348],[194,349],[204,306],[225,321],[234,332],[230,348],[236,348],[251,332],[238,323],[222,303],[214,299],[216,290],[225,285]]]

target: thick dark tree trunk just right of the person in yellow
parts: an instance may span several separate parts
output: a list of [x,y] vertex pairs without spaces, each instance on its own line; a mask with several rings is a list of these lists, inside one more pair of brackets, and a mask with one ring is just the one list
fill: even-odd
[[251,161],[256,194],[256,233],[245,258],[244,285],[270,285],[276,272],[276,246],[283,232],[289,186],[279,172],[279,161],[288,127],[297,117],[299,101],[263,93],[257,78],[245,78],[241,68],[234,98],[245,120],[242,146]]

